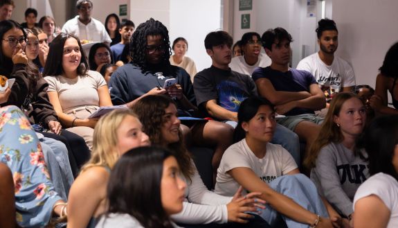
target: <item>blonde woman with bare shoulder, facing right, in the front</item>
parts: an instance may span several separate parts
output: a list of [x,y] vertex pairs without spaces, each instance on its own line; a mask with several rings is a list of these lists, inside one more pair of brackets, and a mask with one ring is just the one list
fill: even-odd
[[107,211],[107,184],[114,164],[128,150],[150,143],[142,128],[129,109],[114,110],[98,121],[91,159],[69,193],[68,227],[94,227]]

